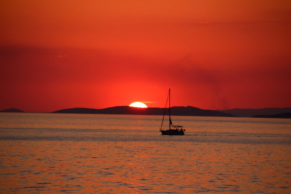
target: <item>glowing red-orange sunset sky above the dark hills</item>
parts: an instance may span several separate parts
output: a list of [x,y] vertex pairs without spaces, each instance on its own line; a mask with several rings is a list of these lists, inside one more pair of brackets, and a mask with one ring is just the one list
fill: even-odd
[[1,1],[0,110],[291,107],[291,1]]

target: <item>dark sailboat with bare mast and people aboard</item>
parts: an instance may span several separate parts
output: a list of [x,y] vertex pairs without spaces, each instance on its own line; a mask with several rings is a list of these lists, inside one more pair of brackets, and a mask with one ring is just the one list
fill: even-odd
[[[167,101],[166,101],[166,107],[165,107],[165,111],[164,111],[164,116],[163,116],[163,120],[162,120],[162,125],[160,128],[160,132],[162,132],[162,135],[184,135],[184,131],[185,129],[183,129],[183,126],[180,125],[173,125],[172,124],[172,120],[171,120],[171,106],[170,106],[170,96],[171,94],[171,89],[169,88],[169,93],[168,93],[168,97],[167,97]],[[164,129],[163,127],[163,122],[164,122],[164,117],[165,117],[165,113],[166,113],[166,109],[167,109],[167,103],[168,103],[168,99],[169,99],[169,129]]]

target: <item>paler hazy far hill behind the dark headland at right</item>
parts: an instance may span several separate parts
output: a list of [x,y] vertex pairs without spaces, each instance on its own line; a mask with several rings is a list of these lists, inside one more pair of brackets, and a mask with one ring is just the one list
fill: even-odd
[[263,109],[227,109],[217,110],[241,117],[252,117],[254,115],[275,115],[285,112],[291,112],[291,107],[287,108],[263,108]]

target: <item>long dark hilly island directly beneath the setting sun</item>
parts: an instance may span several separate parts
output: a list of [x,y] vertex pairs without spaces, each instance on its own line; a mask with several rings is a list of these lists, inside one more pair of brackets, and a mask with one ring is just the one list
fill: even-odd
[[[88,109],[88,108],[73,108],[63,109],[52,113],[79,113],[79,114],[123,114],[123,115],[163,115],[164,108],[137,108],[131,106],[115,106],[105,109]],[[169,109],[166,110],[166,115],[169,115]],[[174,106],[171,107],[171,115],[183,116],[224,116],[234,117],[234,115],[214,111],[203,110],[192,106]]]

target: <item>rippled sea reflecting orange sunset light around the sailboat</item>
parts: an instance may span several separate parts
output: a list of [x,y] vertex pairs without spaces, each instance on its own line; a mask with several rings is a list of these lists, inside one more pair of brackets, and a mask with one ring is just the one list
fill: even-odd
[[291,119],[171,119],[0,113],[0,193],[291,193]]

